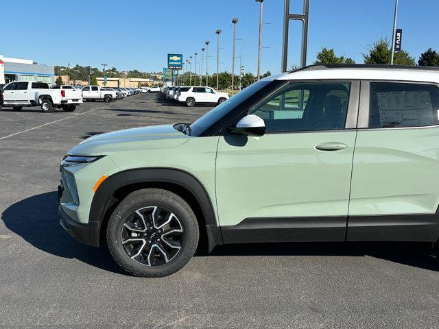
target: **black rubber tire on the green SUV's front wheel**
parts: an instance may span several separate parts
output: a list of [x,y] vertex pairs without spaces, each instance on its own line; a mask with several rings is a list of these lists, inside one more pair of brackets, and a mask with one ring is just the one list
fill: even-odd
[[[125,223],[128,223],[128,221],[132,220],[137,210],[148,209],[147,207],[158,207],[161,208],[162,211],[164,209],[165,211],[171,212],[172,214],[174,214],[174,218],[177,219],[182,228],[182,233],[180,233],[179,236],[179,239],[181,240],[180,249],[178,249],[177,254],[172,256],[172,258],[170,258],[167,263],[162,262],[158,263],[158,265],[151,265],[149,259],[151,250],[155,250],[158,254],[158,257],[163,255],[158,253],[157,249],[153,249],[157,248],[154,247],[154,241],[152,242],[153,245],[151,245],[151,241],[146,241],[148,239],[155,239],[156,237],[160,237],[160,235],[155,235],[155,237],[154,235],[151,235],[152,238],[151,236],[147,238],[137,238],[137,240],[145,239],[144,244],[141,245],[138,249],[134,249],[134,247],[132,247],[132,253],[139,250],[137,254],[140,254],[140,256],[132,256],[133,258],[137,258],[137,260],[134,260],[132,259],[132,257],[130,257],[130,255],[126,251],[126,245],[123,245],[122,243],[122,239],[134,239],[132,238],[132,235],[123,238],[123,232],[124,230],[126,230],[127,227],[125,226]],[[145,216],[145,218],[148,219],[150,217]],[[156,223],[158,222],[158,219],[156,219]],[[139,228],[139,226],[137,227]],[[150,230],[149,232],[150,233],[148,233],[147,230],[145,233],[139,233],[139,235],[154,234],[152,230]],[[158,231],[158,233],[160,234],[160,231]],[[195,249],[197,249],[198,245],[199,235],[200,232],[197,219],[195,218],[195,215],[187,202],[185,202],[185,200],[183,200],[178,195],[170,191],[162,190],[160,188],[145,188],[139,191],[134,191],[133,193],[128,195],[115,208],[115,211],[112,213],[108,221],[106,231],[108,249],[110,250],[110,254],[115,259],[116,263],[128,273],[131,273],[134,276],[142,277],[169,276],[170,274],[182,269],[182,267],[184,267],[189,262],[189,260],[195,253]],[[161,238],[163,240],[163,236],[161,236]],[[158,239],[157,241],[160,241],[160,239]],[[157,244],[161,244],[161,247],[163,247],[165,246],[163,242],[166,241],[161,241],[160,243],[157,242]],[[147,245],[148,243],[151,246]],[[134,243],[130,243],[130,245],[134,245]],[[145,250],[144,247],[150,249]],[[148,257],[145,260],[146,253],[148,253]],[[156,256],[154,256],[154,262],[156,259]],[[139,260],[146,261],[147,264],[141,263]]]

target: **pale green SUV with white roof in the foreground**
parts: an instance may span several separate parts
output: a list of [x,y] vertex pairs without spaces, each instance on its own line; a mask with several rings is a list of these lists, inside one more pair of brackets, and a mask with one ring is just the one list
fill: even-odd
[[135,276],[199,241],[433,241],[439,70],[308,66],[256,82],[193,123],[110,132],[60,166],[61,225]]

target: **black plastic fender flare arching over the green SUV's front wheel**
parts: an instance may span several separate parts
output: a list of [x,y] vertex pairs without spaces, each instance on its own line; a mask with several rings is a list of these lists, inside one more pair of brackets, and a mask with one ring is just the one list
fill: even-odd
[[171,168],[139,168],[115,173],[99,185],[91,202],[89,223],[97,225],[97,236],[100,236],[102,223],[111,196],[119,188],[141,183],[171,183],[181,186],[195,197],[206,221],[209,251],[215,245],[222,244],[222,236],[217,226],[213,203],[203,184],[187,171]]

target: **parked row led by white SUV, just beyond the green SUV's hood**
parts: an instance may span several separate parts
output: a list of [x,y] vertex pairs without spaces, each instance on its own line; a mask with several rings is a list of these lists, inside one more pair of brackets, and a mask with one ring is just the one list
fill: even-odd
[[222,93],[206,86],[174,86],[163,88],[163,96],[171,101],[195,106],[198,103],[220,104],[230,98],[228,93]]

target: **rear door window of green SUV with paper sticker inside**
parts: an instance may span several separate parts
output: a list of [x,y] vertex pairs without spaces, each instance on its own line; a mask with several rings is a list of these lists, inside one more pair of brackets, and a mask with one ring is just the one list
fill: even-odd
[[439,124],[439,88],[433,84],[370,82],[370,128]]

